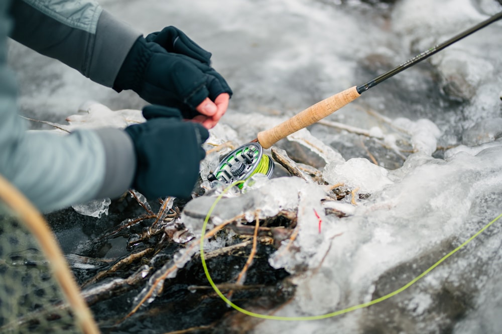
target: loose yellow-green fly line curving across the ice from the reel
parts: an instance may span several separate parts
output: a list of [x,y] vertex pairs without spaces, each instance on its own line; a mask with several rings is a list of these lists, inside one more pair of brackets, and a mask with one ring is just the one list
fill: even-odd
[[399,289],[394,290],[394,291],[392,291],[392,292],[390,292],[390,293],[388,293],[388,294],[386,294],[386,295],[384,295],[384,296],[382,296],[380,298],[376,298],[376,299],[373,299],[373,300],[365,302],[365,303],[357,304],[357,305],[350,306],[350,307],[347,307],[347,308],[344,308],[344,309],[340,309],[338,311],[334,311],[334,312],[330,312],[330,313],[326,313],[326,314],[320,314],[320,315],[311,315],[311,316],[277,316],[277,315],[260,314],[260,313],[255,313],[255,312],[248,311],[248,310],[246,310],[246,309],[244,309],[244,308],[242,308],[242,307],[234,304],[231,300],[229,300],[227,297],[225,297],[225,295],[220,291],[220,289],[218,289],[218,287],[214,283],[213,279],[211,278],[211,275],[209,274],[209,270],[207,269],[206,259],[204,257],[204,235],[206,233],[206,227],[207,227],[207,223],[209,221],[209,217],[211,216],[211,213],[213,212],[214,208],[216,207],[216,204],[218,204],[218,202],[220,201],[220,199],[223,197],[223,195],[225,194],[225,192],[228,189],[230,189],[231,187],[233,187],[233,186],[235,186],[237,184],[241,184],[243,182],[244,181],[236,181],[236,182],[233,182],[232,184],[230,184],[216,198],[216,200],[214,201],[214,203],[212,204],[212,206],[209,208],[209,211],[207,212],[206,218],[204,219],[204,224],[202,225],[202,232],[201,232],[201,237],[200,237],[200,259],[202,261],[202,266],[204,267],[204,273],[206,274],[206,277],[207,277],[207,280],[209,281],[209,284],[214,289],[214,291],[216,292],[216,294],[221,299],[223,299],[223,301],[225,303],[227,303],[229,306],[231,306],[235,310],[237,310],[237,311],[239,311],[241,313],[244,313],[246,315],[253,316],[253,317],[256,317],[256,318],[261,318],[261,319],[268,319],[268,320],[283,320],[283,321],[321,320],[321,319],[327,319],[327,318],[330,318],[330,317],[341,315],[341,314],[344,314],[344,313],[348,313],[348,312],[351,312],[351,311],[355,311],[356,309],[365,308],[365,307],[368,307],[368,306],[371,306],[371,305],[374,305],[374,304],[378,304],[378,303],[380,303],[380,302],[382,302],[384,300],[387,300],[387,299],[389,299],[389,298],[391,298],[391,297],[393,297],[393,296],[395,296],[395,295],[403,292],[404,290],[406,290],[407,288],[409,288],[410,286],[412,286],[413,284],[415,284],[419,279],[423,278],[425,275],[427,275],[429,272],[431,272],[434,268],[436,268],[438,265],[440,265],[442,262],[444,262],[448,257],[452,256],[457,251],[459,251],[461,248],[463,248],[465,245],[467,245],[469,242],[471,242],[472,240],[474,240],[479,234],[481,234],[484,230],[486,230],[494,222],[496,222],[498,219],[500,219],[502,217],[502,213],[499,214],[495,219],[493,219],[488,224],[486,224],[483,228],[481,228],[479,231],[477,231],[473,236],[471,236],[469,239],[467,239],[464,243],[462,243],[460,246],[458,246],[457,248],[453,249],[451,252],[449,252],[448,254],[446,254],[445,256],[443,256],[441,259],[439,259],[436,263],[434,263],[433,265],[431,265],[427,270],[425,270],[424,272],[422,272],[420,275],[418,275],[417,277],[413,278],[410,282],[408,282],[407,284],[403,285]]

